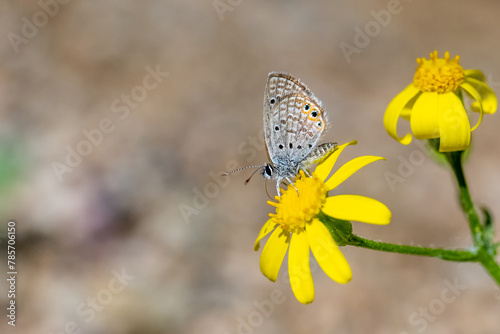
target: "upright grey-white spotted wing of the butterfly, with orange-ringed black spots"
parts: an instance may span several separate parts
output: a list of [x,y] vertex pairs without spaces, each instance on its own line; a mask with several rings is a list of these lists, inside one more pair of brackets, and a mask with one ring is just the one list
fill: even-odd
[[326,128],[326,113],[299,79],[272,72],[264,93],[264,133],[275,165],[300,163]]

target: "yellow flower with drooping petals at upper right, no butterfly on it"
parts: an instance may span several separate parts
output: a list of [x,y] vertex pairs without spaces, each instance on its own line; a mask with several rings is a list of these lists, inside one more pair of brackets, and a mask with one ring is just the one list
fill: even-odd
[[[384,126],[391,137],[404,145],[411,142],[411,134],[399,137],[399,116],[410,121],[417,139],[440,138],[440,152],[461,151],[469,147],[471,131],[482,121],[483,113],[494,114],[497,98],[486,84],[481,71],[464,70],[459,56],[450,59],[449,52],[438,58],[437,51],[430,60],[417,59],[418,67],[413,83],[399,93],[389,104],[384,115]],[[479,112],[477,124],[470,126],[462,94],[472,100],[471,110]]]

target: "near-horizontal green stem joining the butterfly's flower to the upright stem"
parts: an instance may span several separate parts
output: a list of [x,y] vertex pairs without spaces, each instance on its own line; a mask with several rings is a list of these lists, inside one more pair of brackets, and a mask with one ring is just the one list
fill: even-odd
[[364,247],[383,252],[437,257],[446,261],[458,261],[458,262],[479,261],[477,254],[473,253],[472,251],[464,249],[452,250],[452,249],[442,249],[442,248],[396,245],[387,242],[368,240],[360,236],[357,236],[355,234],[351,234],[350,240],[347,244],[351,246]]

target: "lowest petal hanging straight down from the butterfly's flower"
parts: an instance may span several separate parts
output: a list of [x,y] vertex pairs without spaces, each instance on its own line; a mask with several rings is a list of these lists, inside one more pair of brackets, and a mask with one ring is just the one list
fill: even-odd
[[314,284],[309,266],[309,241],[305,232],[292,235],[288,253],[288,271],[297,300],[302,304],[311,303],[314,300]]

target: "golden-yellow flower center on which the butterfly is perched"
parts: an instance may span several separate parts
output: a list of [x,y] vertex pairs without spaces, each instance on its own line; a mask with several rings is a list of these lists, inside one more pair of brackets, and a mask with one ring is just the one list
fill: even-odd
[[300,171],[295,187],[297,190],[290,185],[281,198],[276,196],[278,203],[267,202],[276,207],[276,213],[270,213],[269,216],[285,232],[303,231],[325,204],[328,193],[325,183],[315,173],[312,173],[312,177],[306,177]]

